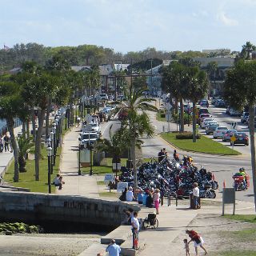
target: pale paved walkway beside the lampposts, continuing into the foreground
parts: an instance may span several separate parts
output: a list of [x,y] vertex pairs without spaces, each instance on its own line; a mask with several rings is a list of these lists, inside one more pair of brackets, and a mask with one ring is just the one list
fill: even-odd
[[[102,129],[106,130],[110,123],[104,123]],[[104,132],[104,131],[103,131]],[[81,175],[78,176],[78,128],[73,128],[70,133],[66,134],[62,145],[62,163],[61,174],[66,184],[63,190],[57,190],[57,194],[74,194],[84,195],[86,197],[99,197],[98,191],[102,190],[102,186],[97,185],[100,177]],[[103,178],[103,177],[102,177]],[[118,200],[118,198],[112,198]],[[142,230],[139,234],[140,240],[146,242],[144,250],[138,251],[141,256],[157,255],[161,256],[176,255],[172,250],[170,243],[184,233],[186,226],[196,218],[197,214],[222,214],[221,199],[214,200],[213,206],[203,206],[200,210],[190,210],[188,205],[164,206],[160,208],[158,215],[159,226],[156,230]],[[217,206],[214,206],[216,205]],[[139,218],[145,218],[147,214],[154,212],[154,209],[142,207],[139,212]],[[232,214],[231,206],[226,207],[226,213]],[[237,201],[236,214],[255,214],[254,204],[251,202]],[[127,241],[130,242],[131,239]],[[95,254],[97,252],[95,251]]]

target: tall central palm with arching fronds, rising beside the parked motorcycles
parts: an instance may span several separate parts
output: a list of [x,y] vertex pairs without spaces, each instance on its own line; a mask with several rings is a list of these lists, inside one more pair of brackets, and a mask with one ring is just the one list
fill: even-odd
[[[130,86],[125,88],[124,95],[126,100],[121,103],[119,110],[127,111],[127,118],[122,123],[122,128],[126,130],[127,142],[130,146],[130,154],[134,169],[134,189],[137,189],[137,168],[136,168],[136,146],[138,146],[142,135],[153,136],[154,127],[150,124],[150,118],[146,110],[157,111],[151,105],[151,98],[143,98],[143,89],[135,89],[131,80]],[[140,112],[140,113],[139,113]]]

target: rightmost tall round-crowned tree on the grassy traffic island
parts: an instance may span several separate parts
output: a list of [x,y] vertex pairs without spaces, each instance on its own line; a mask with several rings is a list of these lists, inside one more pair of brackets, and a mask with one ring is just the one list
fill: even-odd
[[196,142],[196,115],[195,105],[202,99],[208,90],[208,82],[205,71],[198,66],[187,67],[186,71],[187,98],[193,103],[193,142]]

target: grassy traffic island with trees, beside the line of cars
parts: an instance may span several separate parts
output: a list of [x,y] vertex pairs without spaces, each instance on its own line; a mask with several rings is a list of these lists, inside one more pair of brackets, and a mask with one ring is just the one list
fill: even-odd
[[202,152],[208,154],[226,154],[226,155],[238,155],[241,154],[236,150],[232,150],[221,143],[215,142],[210,138],[201,136],[197,142],[192,142],[192,139],[177,139],[176,134],[162,133],[161,137],[164,138],[170,144],[177,146],[181,150]]

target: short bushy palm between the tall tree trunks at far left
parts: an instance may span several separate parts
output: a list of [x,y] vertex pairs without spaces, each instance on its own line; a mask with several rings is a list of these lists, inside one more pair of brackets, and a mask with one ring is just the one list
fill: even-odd
[[26,172],[26,154],[29,152],[30,148],[34,146],[32,141],[33,138],[26,138],[26,134],[22,134],[22,136],[18,138],[18,166],[20,172]]

